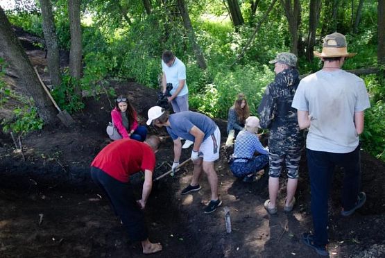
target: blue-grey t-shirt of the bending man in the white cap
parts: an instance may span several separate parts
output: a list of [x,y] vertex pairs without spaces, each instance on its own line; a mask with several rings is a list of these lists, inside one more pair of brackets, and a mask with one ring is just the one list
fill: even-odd
[[214,121],[212,121],[209,117],[204,114],[191,111],[171,114],[169,121],[171,126],[167,126],[166,128],[173,140],[178,139],[178,137],[182,137],[183,139],[194,141],[195,137],[190,135],[189,131],[193,126],[196,126],[205,134],[205,137],[203,138],[204,141],[207,137],[214,133],[217,127],[216,123],[214,123]]

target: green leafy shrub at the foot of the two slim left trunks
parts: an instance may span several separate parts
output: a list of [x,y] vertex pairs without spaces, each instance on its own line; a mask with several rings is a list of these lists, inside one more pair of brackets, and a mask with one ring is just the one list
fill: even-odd
[[68,70],[65,70],[62,74],[62,84],[51,92],[60,109],[67,110],[70,114],[85,107],[81,96],[75,91],[78,83],[74,78],[71,78]]

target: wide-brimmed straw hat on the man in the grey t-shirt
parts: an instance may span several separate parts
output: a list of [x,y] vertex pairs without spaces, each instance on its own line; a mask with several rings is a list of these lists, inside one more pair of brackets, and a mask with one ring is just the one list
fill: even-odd
[[313,52],[314,55],[318,58],[351,58],[357,53],[348,53],[348,47],[346,45],[346,38],[341,33],[333,33],[327,35],[323,39],[323,49],[322,52],[318,51]]

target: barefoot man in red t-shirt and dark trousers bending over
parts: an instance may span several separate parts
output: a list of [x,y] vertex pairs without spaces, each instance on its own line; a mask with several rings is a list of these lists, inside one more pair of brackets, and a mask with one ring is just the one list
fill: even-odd
[[[160,243],[151,243],[141,209],[146,207],[153,186],[155,153],[160,139],[150,136],[144,141],[120,139],[105,146],[91,164],[91,177],[107,194],[115,214],[128,231],[132,241],[142,241],[143,253],[162,250]],[[136,200],[130,175],[144,171],[142,199]]]

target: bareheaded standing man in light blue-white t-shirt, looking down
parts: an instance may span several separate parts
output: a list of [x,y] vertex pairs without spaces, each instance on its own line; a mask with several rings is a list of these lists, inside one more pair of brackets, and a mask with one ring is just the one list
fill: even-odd
[[[162,53],[162,86],[166,93],[167,84],[173,86],[168,97],[175,113],[189,111],[189,88],[186,83],[186,66],[173,52],[166,50]],[[194,142],[186,140],[182,148],[189,148]]]

